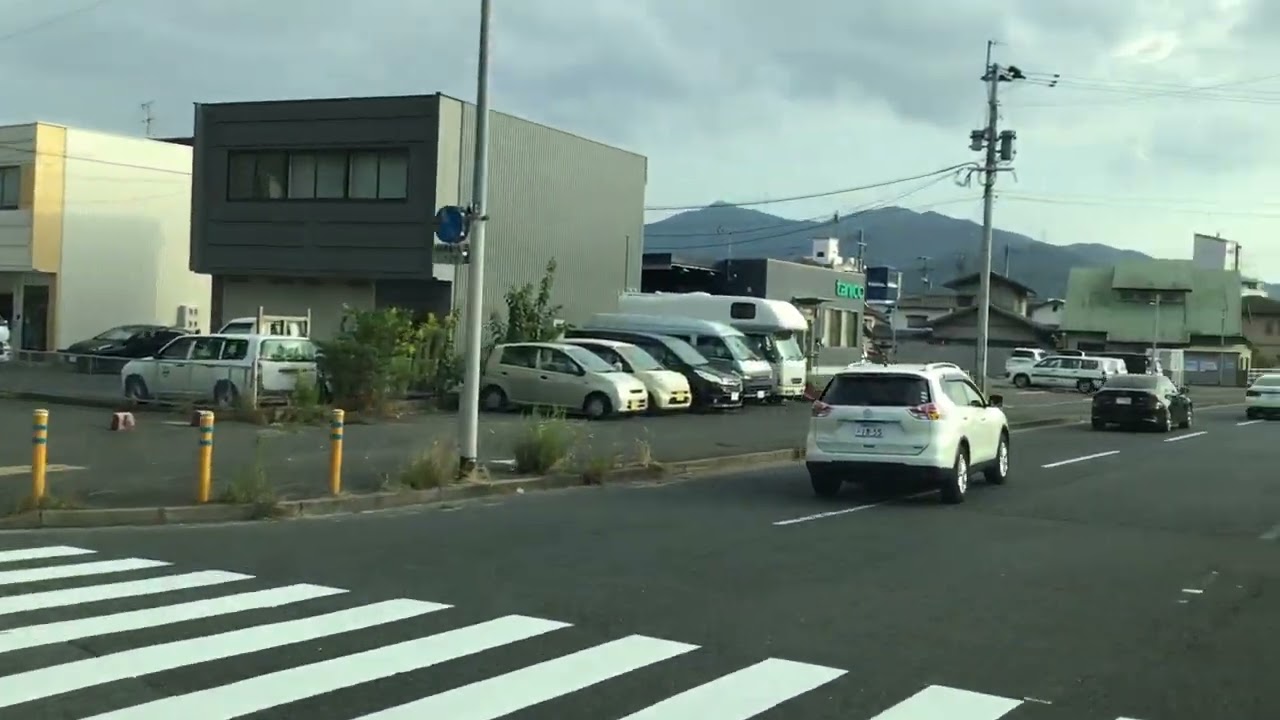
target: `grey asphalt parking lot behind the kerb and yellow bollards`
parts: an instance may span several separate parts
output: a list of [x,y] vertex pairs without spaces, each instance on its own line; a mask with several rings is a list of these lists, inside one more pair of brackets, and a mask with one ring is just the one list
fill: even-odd
[[[1206,391],[1208,392],[1208,391]],[[1213,389],[1238,400],[1239,389]],[[1210,396],[1206,396],[1206,401]],[[1012,423],[1083,418],[1088,397],[1078,393],[1006,392]],[[0,400],[0,509],[28,492],[31,410],[27,401]],[[196,433],[184,418],[138,413],[132,432],[110,432],[109,410],[50,406],[49,461],[74,468],[51,475],[55,495],[86,506],[180,505],[195,493]],[[572,421],[579,462],[636,460],[648,451],[658,461],[681,461],[804,445],[809,406],[751,406],[713,415]],[[518,414],[481,416],[480,456],[509,460],[530,420]],[[328,488],[328,429],[260,428],[220,423],[214,451],[215,484],[224,486],[251,466],[265,468],[282,498],[314,497]],[[435,442],[457,437],[457,418],[428,414],[379,425],[349,425],[346,433],[344,487],[367,492],[394,478]]]

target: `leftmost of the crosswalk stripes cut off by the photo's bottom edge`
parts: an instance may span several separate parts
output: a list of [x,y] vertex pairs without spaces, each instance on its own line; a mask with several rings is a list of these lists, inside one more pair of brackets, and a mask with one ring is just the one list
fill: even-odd
[[568,623],[508,615],[413,641],[291,667],[238,683],[168,697],[86,720],[227,720],[567,628]]

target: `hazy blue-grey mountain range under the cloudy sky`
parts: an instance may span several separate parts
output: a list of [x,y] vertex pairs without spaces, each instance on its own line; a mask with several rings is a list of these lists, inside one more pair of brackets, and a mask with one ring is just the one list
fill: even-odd
[[[1190,234],[1190,233],[1188,233]],[[645,225],[645,252],[672,252],[686,259],[795,259],[813,252],[813,240],[838,237],[840,254],[856,256],[865,243],[867,265],[902,272],[902,293],[938,292],[947,281],[978,270],[982,225],[905,208],[878,208],[828,222],[788,220],[759,210],[713,202]],[[1190,237],[1187,238],[1188,256]],[[1124,260],[1149,260],[1137,250],[1094,242],[1050,245],[996,229],[992,270],[1036,291],[1041,299],[1064,297],[1071,268],[1105,266]],[[1267,292],[1280,297],[1280,284]]]

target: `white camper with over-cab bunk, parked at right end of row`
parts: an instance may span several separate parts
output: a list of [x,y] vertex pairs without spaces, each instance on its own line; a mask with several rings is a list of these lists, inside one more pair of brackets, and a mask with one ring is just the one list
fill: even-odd
[[625,292],[620,313],[681,315],[724,323],[742,331],[756,355],[773,366],[774,397],[804,397],[805,356],[800,338],[809,323],[783,300],[707,292]]

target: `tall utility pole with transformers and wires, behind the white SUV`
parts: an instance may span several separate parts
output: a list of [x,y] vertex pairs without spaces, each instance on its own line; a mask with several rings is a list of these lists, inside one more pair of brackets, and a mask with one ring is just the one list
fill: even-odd
[[1002,68],[991,60],[995,41],[987,42],[987,67],[982,79],[987,83],[987,127],[969,133],[969,147],[974,151],[986,150],[982,164],[982,259],[978,261],[978,342],[975,347],[975,373],[978,388],[987,392],[987,345],[991,340],[991,243],[992,209],[996,200],[996,173],[1001,163],[1014,159],[1014,138],[1016,133],[1006,129],[1000,132],[1000,83],[1025,79],[1021,70],[1010,65]]

